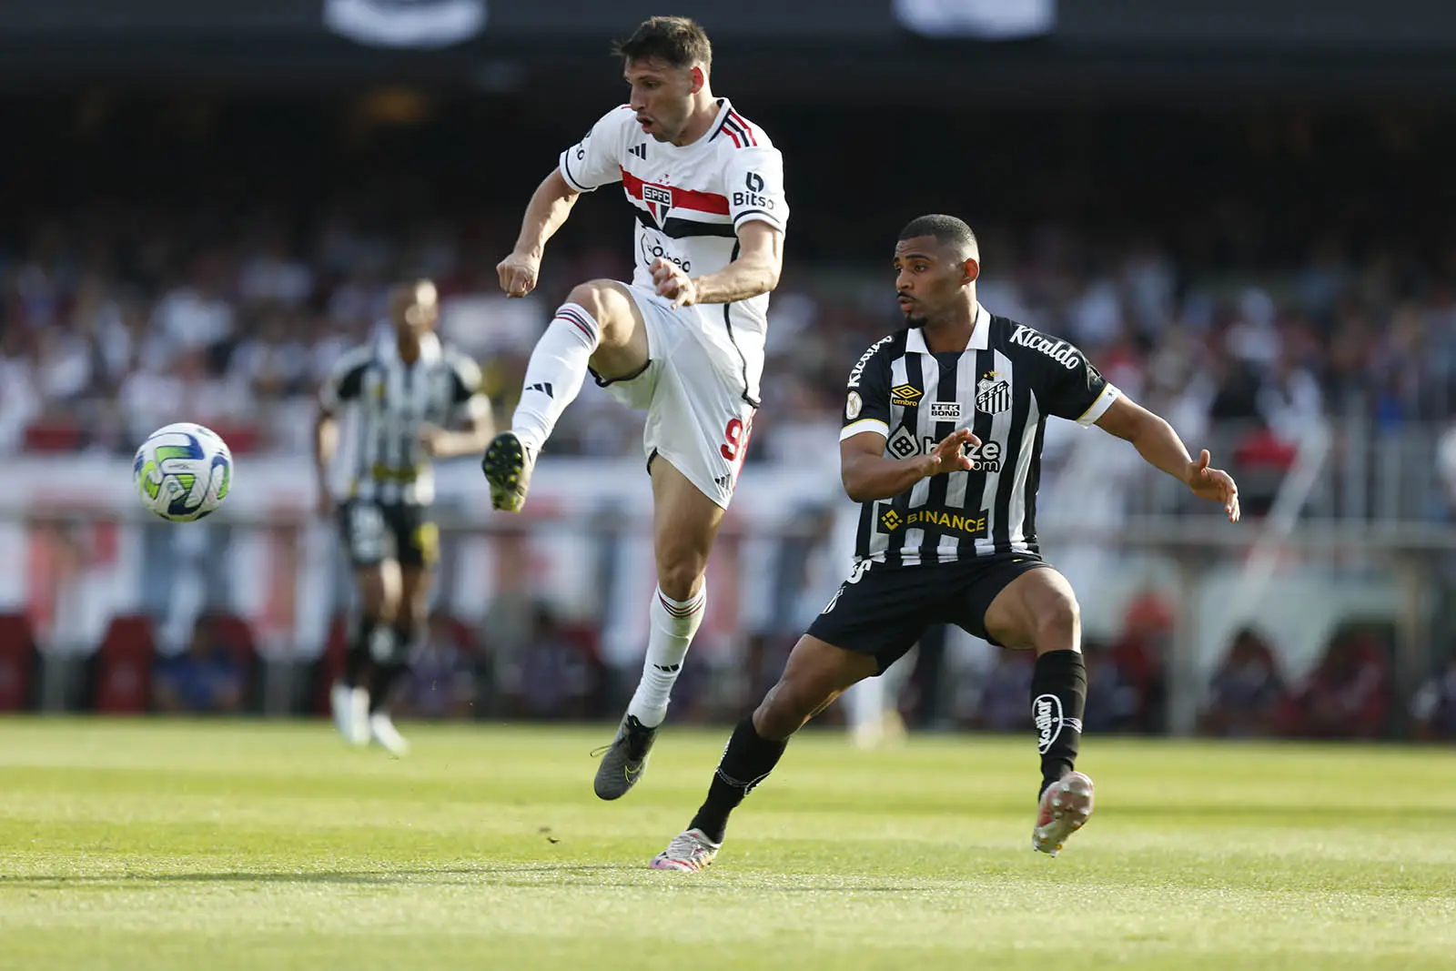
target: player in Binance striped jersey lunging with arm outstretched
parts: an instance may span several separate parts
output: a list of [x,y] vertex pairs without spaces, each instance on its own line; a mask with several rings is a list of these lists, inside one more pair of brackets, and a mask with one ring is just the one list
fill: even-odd
[[779,683],[724,750],[697,815],[652,866],[700,871],[728,815],[779,761],[789,735],[849,686],[877,677],[930,623],[1037,652],[1031,713],[1041,756],[1032,847],[1053,856],[1092,814],[1075,770],[1086,700],[1077,601],[1037,543],[1037,477],[1048,416],[1098,425],[1239,520],[1233,479],[1188,456],[1176,432],[1109,384],[1066,341],[997,317],[976,298],[970,227],[923,215],[894,255],[904,330],[849,376],[840,472],[860,502],[849,579],[810,625]]

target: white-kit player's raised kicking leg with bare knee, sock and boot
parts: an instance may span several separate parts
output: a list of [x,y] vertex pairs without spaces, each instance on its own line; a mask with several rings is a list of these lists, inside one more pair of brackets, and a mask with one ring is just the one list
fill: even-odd
[[603,380],[622,380],[646,362],[642,314],[623,285],[593,280],[575,287],[531,351],[511,428],[491,441],[480,460],[491,504],[508,512],[524,505],[536,457],[581,393],[588,370]]

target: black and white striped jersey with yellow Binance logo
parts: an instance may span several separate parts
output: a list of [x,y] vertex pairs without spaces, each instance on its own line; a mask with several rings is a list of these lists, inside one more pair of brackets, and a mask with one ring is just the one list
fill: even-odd
[[1077,348],[977,310],[964,351],[932,354],[917,329],[865,351],[849,374],[840,441],[885,440],[885,457],[932,451],[970,428],[970,472],[922,479],[891,499],[865,502],[856,560],[890,566],[1038,553],[1037,480],[1048,416],[1091,425],[1118,390]]

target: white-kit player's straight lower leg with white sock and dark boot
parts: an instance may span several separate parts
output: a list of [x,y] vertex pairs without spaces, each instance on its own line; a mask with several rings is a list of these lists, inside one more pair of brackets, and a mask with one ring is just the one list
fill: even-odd
[[652,460],[652,547],[657,590],[648,607],[649,629],[642,678],[638,681],[616,738],[597,767],[596,792],[617,799],[636,785],[646,767],[657,729],[667,718],[673,684],[708,604],[708,555],[724,510],[671,461]]

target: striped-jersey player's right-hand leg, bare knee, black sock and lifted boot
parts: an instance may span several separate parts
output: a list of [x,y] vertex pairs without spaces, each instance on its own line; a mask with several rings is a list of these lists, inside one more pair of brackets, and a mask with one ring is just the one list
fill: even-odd
[[1092,815],[1092,780],[1075,770],[1088,675],[1082,619],[1066,576],[1051,568],[1022,574],[986,610],[986,630],[1012,648],[1034,648],[1031,716],[1041,754],[1032,847],[1056,856]]

